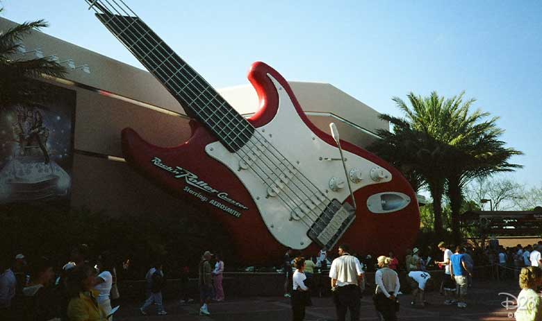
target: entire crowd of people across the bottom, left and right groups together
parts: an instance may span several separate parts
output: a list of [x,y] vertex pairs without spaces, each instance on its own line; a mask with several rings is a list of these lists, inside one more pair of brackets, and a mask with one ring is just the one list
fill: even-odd
[[[520,288],[517,320],[542,320],[542,302],[537,291],[542,286],[542,241],[533,245],[517,245],[514,248],[490,246],[486,250],[475,250],[470,246],[448,246],[438,243],[436,250],[430,248],[407,250],[404,260],[388,256],[359,256],[348,245],[340,245],[335,259],[329,260],[328,253],[320,250],[313,257],[305,259],[294,255],[288,249],[284,255],[284,291],[292,305],[294,321],[304,320],[305,307],[312,305],[311,290],[321,287],[315,279],[320,270],[331,279],[331,294],[336,306],[338,320],[359,320],[360,298],[366,284],[374,284],[372,300],[380,320],[397,320],[400,289],[399,272],[404,272],[411,290],[411,305],[423,309],[427,302],[425,289],[432,282],[428,268],[443,269],[443,278],[435,286],[444,295],[443,304],[457,304],[465,308],[468,304],[468,288],[473,284],[475,262],[490,272],[490,277],[516,278]],[[95,259],[88,257],[87,245],[73,248],[70,260],[56,271],[56,263],[38,257],[26,261],[24,254],[17,254],[12,260],[0,262],[0,320],[113,320],[115,300],[120,297],[117,288],[117,270],[110,252],[101,253]],[[437,257],[438,259],[432,259]],[[329,255],[334,256],[333,254]],[[328,262],[331,262],[329,272]],[[129,261],[122,269],[127,268]],[[202,254],[197,268],[200,315],[210,315],[211,302],[223,301],[222,280],[224,261],[220,254],[206,251]],[[494,272],[493,272],[494,271]],[[188,293],[188,266],[183,268],[180,278],[181,303],[192,302]],[[366,279],[366,272],[375,272],[373,280]],[[163,306],[162,291],[166,277],[163,263],[156,261],[148,270],[146,279],[146,300],[140,306],[140,313],[147,315],[151,306],[156,306],[158,315],[167,312]],[[322,278],[318,278],[321,280]],[[406,286],[406,284],[404,284]],[[523,305],[522,305],[523,304]],[[152,310],[155,310],[153,307]]]

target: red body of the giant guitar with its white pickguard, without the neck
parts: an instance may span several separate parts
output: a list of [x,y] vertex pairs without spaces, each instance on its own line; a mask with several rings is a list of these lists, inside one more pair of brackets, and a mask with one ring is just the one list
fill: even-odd
[[[318,190],[325,191],[327,198],[352,203],[346,186],[334,191],[328,184],[333,177],[345,178],[340,160],[325,160],[340,157],[336,142],[309,121],[286,80],[262,62],[252,65],[248,78],[261,103],[249,119],[258,135],[267,135],[274,148]],[[236,247],[239,263],[276,264],[287,246],[309,257],[318,253],[321,246],[306,235],[311,225],[306,223],[308,216],[290,216],[294,206],[288,207],[288,200],[294,196],[289,194],[289,185],[279,196],[266,195],[273,182],[258,179],[251,168],[240,168],[239,156],[226,150],[206,127],[197,121],[190,125],[190,139],[170,148],[150,144],[131,128],[124,129],[126,161],[163,189],[197,204],[202,215],[220,220]],[[420,226],[415,193],[401,173],[379,157],[347,141],[341,141],[341,146],[347,170],[359,171],[359,181],[352,180],[356,217],[338,244],[349,243],[359,254],[402,254],[415,241]],[[281,203],[281,197],[286,201]]]

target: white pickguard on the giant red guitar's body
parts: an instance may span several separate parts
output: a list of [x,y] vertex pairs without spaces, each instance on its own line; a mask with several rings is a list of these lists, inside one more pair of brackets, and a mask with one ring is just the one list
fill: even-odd
[[[350,196],[350,191],[347,188],[345,177],[345,171],[342,162],[340,162],[340,153],[336,146],[331,146],[327,142],[322,141],[317,135],[315,135],[299,118],[299,114],[295,110],[295,107],[290,100],[290,96],[286,90],[268,74],[268,77],[272,80],[277,93],[279,95],[279,109],[274,119],[270,123],[263,125],[256,130],[261,133],[265,139],[280,151],[288,161],[295,166],[307,179],[309,179],[329,200],[336,198],[339,202]],[[258,136],[255,132],[254,136]],[[245,148],[245,147],[243,147]],[[352,191],[361,189],[363,186],[369,184],[379,184],[382,182],[389,182],[392,177],[391,173],[384,168],[377,166],[367,159],[359,157],[353,153],[343,150],[344,158],[346,159],[347,171],[353,168],[359,168],[361,170],[361,180],[359,182],[352,182]],[[236,173],[239,180],[243,182],[247,191],[252,196],[260,214],[268,227],[269,232],[277,238],[279,243],[289,246],[290,248],[302,250],[309,246],[312,240],[306,236],[306,232],[309,230],[311,218],[304,217],[302,220],[290,220],[291,208],[299,206],[299,200],[293,195],[292,189],[295,189],[301,184],[295,184],[290,186],[285,191],[279,193],[275,197],[268,196],[268,184],[271,181],[263,182],[252,170],[252,168],[240,169],[240,155],[246,155],[241,151],[238,153],[230,153],[220,141],[208,144],[206,146],[206,153],[211,157],[217,159],[222,164]],[[258,157],[264,158],[265,155],[259,155]],[[338,160],[326,160],[326,159],[338,159]],[[263,162],[263,161],[262,161]],[[258,164],[255,164],[257,166]],[[261,164],[263,166],[263,164]],[[371,170],[375,168],[381,170],[381,177],[379,180],[373,180],[371,177]],[[329,186],[329,181],[332,177],[338,177],[344,180],[344,188],[338,189],[338,191],[332,191]],[[266,184],[267,183],[267,184]],[[299,189],[304,189],[299,187]],[[309,193],[304,189],[306,193]],[[302,195],[303,191],[295,193],[296,195]],[[365,206],[359,204],[360,206]],[[316,216],[318,209],[315,210],[313,216]],[[311,213],[312,214],[312,213]],[[250,231],[247,231],[249,233]]]

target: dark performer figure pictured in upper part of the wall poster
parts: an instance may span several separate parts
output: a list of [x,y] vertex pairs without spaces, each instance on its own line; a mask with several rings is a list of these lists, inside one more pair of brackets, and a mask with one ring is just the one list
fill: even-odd
[[47,138],[49,130],[43,125],[43,115],[40,110],[31,109],[17,110],[17,123],[15,123],[14,131],[19,136],[19,155],[31,155],[31,148],[40,147],[44,157],[44,163],[49,163],[49,153],[47,152]]

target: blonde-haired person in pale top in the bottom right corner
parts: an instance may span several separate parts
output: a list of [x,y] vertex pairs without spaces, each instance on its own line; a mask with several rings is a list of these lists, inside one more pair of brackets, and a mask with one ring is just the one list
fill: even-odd
[[542,320],[542,300],[536,287],[542,283],[542,270],[537,266],[522,268],[519,276],[520,288],[518,309],[514,313],[517,321]]

